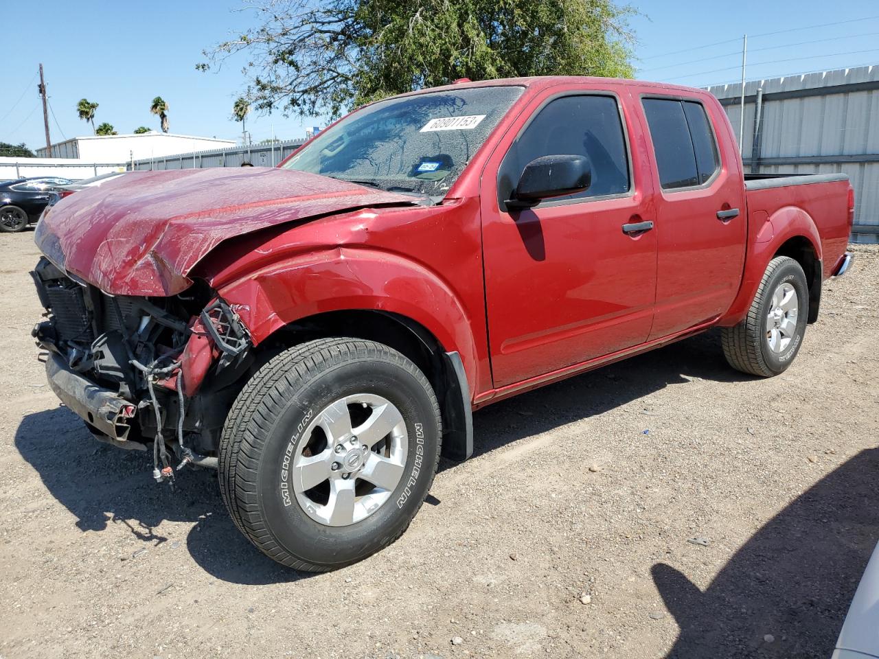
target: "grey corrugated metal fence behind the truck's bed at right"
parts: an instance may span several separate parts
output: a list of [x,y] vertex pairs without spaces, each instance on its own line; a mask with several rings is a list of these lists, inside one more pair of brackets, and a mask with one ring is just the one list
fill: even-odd
[[[742,85],[708,87],[738,133]],[[845,172],[854,240],[879,236],[879,66],[745,83],[745,171]]]

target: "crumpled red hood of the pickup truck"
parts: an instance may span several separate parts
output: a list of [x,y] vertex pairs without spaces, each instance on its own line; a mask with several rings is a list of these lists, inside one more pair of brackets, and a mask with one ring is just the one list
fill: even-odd
[[55,265],[117,295],[174,295],[225,240],[261,228],[418,199],[302,171],[264,167],[131,172],[76,192],[34,241]]

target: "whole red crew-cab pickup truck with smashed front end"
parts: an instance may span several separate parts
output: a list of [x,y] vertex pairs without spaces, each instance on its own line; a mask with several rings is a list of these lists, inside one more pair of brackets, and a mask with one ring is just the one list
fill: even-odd
[[63,199],[33,334],[98,438],[160,482],[217,467],[241,531],[320,571],[405,530],[483,405],[716,326],[732,367],[784,371],[853,214],[845,175],[744,174],[705,91],[460,81],[279,168]]

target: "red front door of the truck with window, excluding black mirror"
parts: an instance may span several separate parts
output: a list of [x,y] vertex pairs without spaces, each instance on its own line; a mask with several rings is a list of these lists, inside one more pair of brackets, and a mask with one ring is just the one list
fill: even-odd
[[[655,230],[626,233],[644,214],[650,173],[633,154],[621,99],[548,92],[505,135],[483,174],[485,294],[495,387],[642,344],[657,278]],[[585,192],[508,208],[524,166],[584,155]]]

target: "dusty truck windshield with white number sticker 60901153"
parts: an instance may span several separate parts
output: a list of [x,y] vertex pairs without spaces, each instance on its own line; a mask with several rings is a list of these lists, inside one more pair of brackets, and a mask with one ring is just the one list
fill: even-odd
[[318,135],[283,167],[445,196],[523,89],[477,87],[380,101]]

